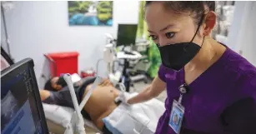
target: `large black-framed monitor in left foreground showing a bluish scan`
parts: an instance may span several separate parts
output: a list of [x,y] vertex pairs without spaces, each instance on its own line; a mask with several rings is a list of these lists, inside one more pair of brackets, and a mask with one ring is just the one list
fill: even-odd
[[33,67],[26,58],[1,72],[2,134],[48,134]]

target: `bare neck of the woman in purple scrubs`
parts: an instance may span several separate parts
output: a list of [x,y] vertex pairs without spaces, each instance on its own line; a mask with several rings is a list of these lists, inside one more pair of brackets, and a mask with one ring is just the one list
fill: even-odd
[[206,70],[213,62],[216,62],[222,56],[225,47],[213,40],[211,37],[205,37],[203,45],[193,60],[185,66],[187,71]]

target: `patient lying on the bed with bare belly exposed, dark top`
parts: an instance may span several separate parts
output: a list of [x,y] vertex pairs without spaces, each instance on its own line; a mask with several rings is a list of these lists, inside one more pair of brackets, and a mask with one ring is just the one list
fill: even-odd
[[[83,100],[90,87],[93,86],[95,78],[83,79],[74,84],[75,92],[78,97],[78,103]],[[40,90],[40,96],[43,102],[57,104],[64,107],[73,107],[71,95],[63,77],[53,77],[46,84],[45,89]],[[92,122],[104,133],[111,133],[104,126],[103,118],[108,117],[113,110],[118,107],[114,102],[120,91],[113,87],[108,79],[103,80],[94,90],[88,102],[83,107],[83,117],[92,120]]]

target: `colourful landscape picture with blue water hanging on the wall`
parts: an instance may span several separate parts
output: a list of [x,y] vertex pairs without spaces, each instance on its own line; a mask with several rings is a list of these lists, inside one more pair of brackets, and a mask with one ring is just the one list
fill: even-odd
[[69,1],[68,23],[70,26],[112,26],[113,1]]

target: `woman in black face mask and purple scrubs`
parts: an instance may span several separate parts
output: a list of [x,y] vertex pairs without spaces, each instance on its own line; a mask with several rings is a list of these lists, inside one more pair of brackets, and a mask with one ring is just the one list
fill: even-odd
[[146,2],[162,65],[149,87],[125,101],[145,102],[167,88],[157,134],[256,134],[256,68],[213,40],[214,7],[213,1]]

